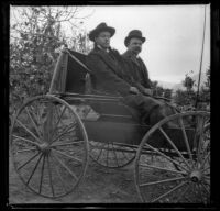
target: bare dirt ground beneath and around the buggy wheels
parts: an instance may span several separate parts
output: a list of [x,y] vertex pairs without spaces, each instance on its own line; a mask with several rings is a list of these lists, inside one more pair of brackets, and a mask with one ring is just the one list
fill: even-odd
[[134,162],[119,169],[105,168],[92,159],[85,179],[72,193],[61,199],[47,199],[29,190],[9,159],[9,204],[18,203],[139,203],[134,182]]

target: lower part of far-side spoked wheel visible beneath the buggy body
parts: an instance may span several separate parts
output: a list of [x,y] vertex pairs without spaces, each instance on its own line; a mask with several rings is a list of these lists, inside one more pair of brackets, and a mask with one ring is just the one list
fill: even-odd
[[131,164],[135,158],[136,148],[133,145],[94,141],[89,143],[90,157],[103,167],[121,168]]

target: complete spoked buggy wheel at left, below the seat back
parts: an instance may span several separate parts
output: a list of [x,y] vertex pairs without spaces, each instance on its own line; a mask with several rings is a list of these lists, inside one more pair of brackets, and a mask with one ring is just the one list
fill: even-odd
[[47,198],[70,193],[88,165],[86,130],[73,108],[54,96],[30,99],[10,133],[14,168],[24,185]]

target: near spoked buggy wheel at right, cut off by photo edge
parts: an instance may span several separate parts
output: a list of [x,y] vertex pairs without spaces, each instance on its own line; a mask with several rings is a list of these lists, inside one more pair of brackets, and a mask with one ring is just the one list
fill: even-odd
[[143,202],[210,202],[209,119],[209,112],[178,113],[145,134],[135,159]]

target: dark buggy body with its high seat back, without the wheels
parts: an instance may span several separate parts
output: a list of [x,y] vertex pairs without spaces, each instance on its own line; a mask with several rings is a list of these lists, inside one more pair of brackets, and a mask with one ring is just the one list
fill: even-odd
[[[85,54],[64,49],[53,74],[50,93],[57,95],[75,108],[89,107],[98,113],[98,119],[81,119],[90,140],[140,144],[151,125],[143,124],[138,111],[121,102],[122,97],[94,93],[90,74]],[[167,133],[179,134],[179,130]],[[160,147],[164,146],[163,137],[158,135],[154,140]]]

